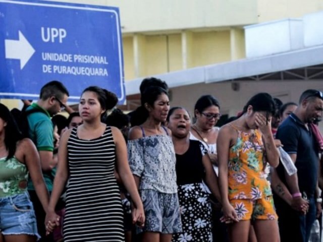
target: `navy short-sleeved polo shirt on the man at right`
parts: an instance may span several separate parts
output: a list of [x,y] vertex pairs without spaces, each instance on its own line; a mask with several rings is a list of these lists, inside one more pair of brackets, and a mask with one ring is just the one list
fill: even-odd
[[[307,196],[314,195],[317,169],[318,150],[314,135],[307,129],[301,120],[292,113],[278,128],[276,138],[281,140],[283,149],[289,154],[297,154],[295,166],[297,167],[298,186],[300,192]],[[284,167],[280,163],[278,175],[286,184]]]

